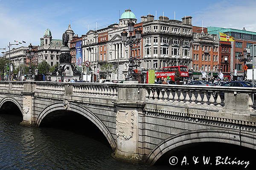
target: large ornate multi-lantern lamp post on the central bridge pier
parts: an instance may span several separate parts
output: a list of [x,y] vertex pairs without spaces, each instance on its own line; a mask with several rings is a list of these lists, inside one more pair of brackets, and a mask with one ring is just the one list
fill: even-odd
[[133,67],[136,66],[136,68],[137,68],[138,65],[137,65],[136,61],[134,60],[134,59],[137,59],[137,57],[132,57],[132,47],[133,47],[133,45],[138,45],[140,43],[142,31],[140,29],[135,30],[135,39],[134,39],[132,37],[132,33],[134,31],[134,23],[131,20],[128,22],[128,31],[130,33],[129,40],[127,40],[128,32],[126,32],[125,30],[122,31],[121,37],[122,37],[122,43],[125,46],[127,46],[127,45],[130,46],[129,68],[128,68],[128,74],[127,74],[126,80],[133,81],[133,80],[135,80],[135,79],[133,79],[133,77],[136,74]]

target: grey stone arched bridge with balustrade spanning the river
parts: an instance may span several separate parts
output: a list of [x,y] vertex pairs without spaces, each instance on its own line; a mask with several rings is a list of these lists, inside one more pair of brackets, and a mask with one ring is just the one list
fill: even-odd
[[253,93],[255,88],[6,81],[0,82],[0,109],[11,102],[23,114],[21,125],[37,127],[55,111],[79,113],[101,130],[114,157],[154,164],[169,150],[198,142],[256,149]]

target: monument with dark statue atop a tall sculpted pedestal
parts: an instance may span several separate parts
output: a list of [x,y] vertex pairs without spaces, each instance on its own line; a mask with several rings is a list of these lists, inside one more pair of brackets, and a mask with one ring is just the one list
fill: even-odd
[[68,47],[69,35],[65,31],[62,35],[62,46],[61,46],[61,55],[59,57],[59,65],[55,67],[55,71],[52,72],[51,80],[62,82],[64,79],[80,79],[81,73],[76,69],[75,66],[71,65],[71,54],[70,48]]

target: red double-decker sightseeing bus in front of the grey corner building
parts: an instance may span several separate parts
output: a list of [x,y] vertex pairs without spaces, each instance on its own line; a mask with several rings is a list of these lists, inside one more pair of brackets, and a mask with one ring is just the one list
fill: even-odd
[[167,80],[174,80],[175,72],[180,72],[180,77],[189,77],[189,71],[187,66],[179,65],[179,66],[171,66],[171,67],[163,67],[162,72],[156,72],[155,76],[158,78],[166,78]]

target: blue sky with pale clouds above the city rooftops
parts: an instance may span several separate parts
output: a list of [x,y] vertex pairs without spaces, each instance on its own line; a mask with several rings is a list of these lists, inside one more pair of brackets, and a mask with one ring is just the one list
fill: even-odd
[[[130,3],[128,3],[130,2]],[[24,46],[39,45],[44,31],[49,28],[53,39],[61,39],[68,24],[75,34],[86,34],[90,29],[119,22],[122,14],[130,8],[140,22],[148,13],[181,20],[192,16],[195,26],[219,26],[224,28],[246,28],[256,31],[253,20],[255,0],[0,0],[0,48],[14,40],[26,41]],[[20,45],[21,46],[21,45]],[[12,46],[13,47],[13,46]]]

